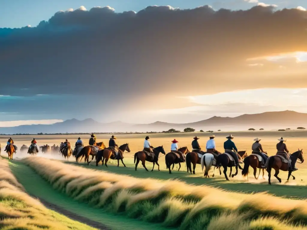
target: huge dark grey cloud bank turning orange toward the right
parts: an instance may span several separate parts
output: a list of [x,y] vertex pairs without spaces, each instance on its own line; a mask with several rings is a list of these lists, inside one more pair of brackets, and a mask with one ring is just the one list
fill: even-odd
[[[243,89],[251,87],[248,76],[255,71],[247,58],[307,51],[306,16],[262,6],[57,12],[37,27],[0,29],[0,74],[14,85],[1,84],[0,92],[94,94],[97,101],[119,104],[189,95],[195,88],[201,94],[208,82],[215,86],[208,92]],[[273,86],[278,76],[266,79],[262,85]]]

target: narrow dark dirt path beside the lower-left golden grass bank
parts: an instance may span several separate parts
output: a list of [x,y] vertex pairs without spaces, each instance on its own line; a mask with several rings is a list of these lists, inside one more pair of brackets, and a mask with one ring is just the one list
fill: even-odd
[[[34,196],[32,196],[32,197],[34,197]],[[90,219],[88,219],[86,217],[81,217],[81,216],[79,216],[79,215],[77,215],[75,213],[72,213],[72,212],[70,212],[70,211],[68,211],[66,209],[63,209],[63,208],[61,208],[61,207],[59,207],[57,205],[49,203],[48,201],[45,201],[45,200],[43,200],[43,199],[41,199],[39,197],[34,197],[34,198],[39,199],[39,201],[41,201],[41,203],[43,205],[45,205],[45,207],[47,209],[51,209],[53,211],[56,211],[57,213],[60,213],[60,214],[66,216],[66,217],[68,217],[68,218],[70,218],[72,220],[79,221],[79,222],[81,222],[83,224],[87,224],[88,226],[91,226],[91,227],[97,228],[97,229],[103,229],[103,230],[110,230],[111,229],[111,228],[108,228],[107,226],[105,226],[105,225],[103,225],[103,224],[101,224],[99,222],[90,220]]]

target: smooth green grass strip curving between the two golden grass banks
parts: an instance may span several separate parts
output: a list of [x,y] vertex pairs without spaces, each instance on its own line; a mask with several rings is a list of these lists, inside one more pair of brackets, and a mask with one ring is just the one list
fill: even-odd
[[122,215],[114,215],[111,211],[95,209],[87,204],[75,201],[66,194],[55,191],[47,181],[36,174],[29,166],[19,161],[10,162],[10,169],[29,194],[40,197],[72,213],[102,223],[111,229],[163,229],[161,225],[149,224]]

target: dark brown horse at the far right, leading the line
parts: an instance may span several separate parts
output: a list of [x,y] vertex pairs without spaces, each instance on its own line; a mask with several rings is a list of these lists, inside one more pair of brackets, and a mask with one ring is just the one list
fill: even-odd
[[[295,166],[297,159],[301,160],[301,163],[303,163],[304,162],[303,149],[301,149],[301,150],[298,149],[298,151],[290,154],[290,157],[291,157],[291,161],[293,161],[293,160],[295,161],[294,164],[293,164],[293,167]],[[274,168],[274,170],[275,170],[274,177],[276,177],[278,179],[279,183],[281,183],[282,179],[278,177],[279,170],[288,171],[288,163],[282,162],[282,159],[278,155],[270,156],[266,160],[266,171],[268,171],[268,174],[269,174],[269,185],[271,184],[271,170],[272,170],[272,168]],[[292,173],[292,171],[289,171],[287,182],[289,181],[290,176],[292,176],[293,180],[295,180],[295,177],[293,175],[291,175],[291,173]]]

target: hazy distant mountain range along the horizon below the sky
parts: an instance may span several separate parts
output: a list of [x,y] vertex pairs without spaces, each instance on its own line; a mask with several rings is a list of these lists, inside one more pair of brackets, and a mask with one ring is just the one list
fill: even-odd
[[238,117],[211,117],[206,120],[176,124],[156,121],[150,124],[129,124],[121,121],[100,123],[93,119],[79,121],[70,119],[52,125],[20,125],[16,127],[0,127],[2,134],[15,133],[80,133],[80,132],[161,132],[170,128],[183,131],[184,128],[194,128],[196,131],[203,129],[222,131],[240,131],[248,128],[295,129],[299,126],[307,126],[307,113],[295,111],[265,112],[257,114],[244,114]]

